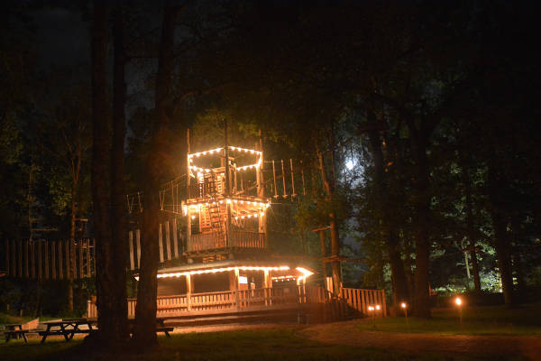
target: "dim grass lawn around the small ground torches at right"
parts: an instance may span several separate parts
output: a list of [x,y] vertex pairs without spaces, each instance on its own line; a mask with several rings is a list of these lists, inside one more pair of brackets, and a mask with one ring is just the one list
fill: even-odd
[[[409,318],[409,327],[403,317],[367,319],[362,330],[386,332],[417,332],[447,335],[505,335],[540,336],[541,304],[529,304],[517,309],[503,306],[464,307],[463,325],[457,309],[432,310],[432,319]],[[374,328],[375,325],[375,328]]]

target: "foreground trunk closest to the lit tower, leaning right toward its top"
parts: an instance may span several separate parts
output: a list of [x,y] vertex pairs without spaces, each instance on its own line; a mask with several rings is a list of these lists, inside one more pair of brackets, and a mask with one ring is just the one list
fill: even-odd
[[156,339],[156,301],[158,289],[158,227],[160,214],[160,179],[166,169],[164,154],[170,123],[167,114],[170,102],[170,84],[174,67],[174,31],[179,8],[167,2],[161,25],[160,55],[156,77],[156,123],[151,133],[151,152],[147,156],[144,210],[142,215],[142,257],[137,306],[135,308],[135,333],[137,345],[153,347]]

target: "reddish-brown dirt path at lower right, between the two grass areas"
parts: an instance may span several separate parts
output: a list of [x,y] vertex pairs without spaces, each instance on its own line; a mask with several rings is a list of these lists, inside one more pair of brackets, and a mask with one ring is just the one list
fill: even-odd
[[504,336],[447,336],[362,331],[362,320],[335,322],[301,329],[298,334],[320,342],[353,347],[383,348],[412,354],[438,352],[469,356],[541,360],[541,338]]

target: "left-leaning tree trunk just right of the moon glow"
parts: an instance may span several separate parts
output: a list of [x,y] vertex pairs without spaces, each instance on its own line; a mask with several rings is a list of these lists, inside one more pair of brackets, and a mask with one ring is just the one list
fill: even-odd
[[[375,118],[375,116],[373,116],[373,118]],[[389,194],[384,180],[384,161],[383,151],[381,149],[381,137],[377,130],[370,131],[368,136],[375,168],[374,180],[378,192],[378,204],[381,205],[384,204],[382,200],[386,197],[386,194]],[[393,312],[395,312],[398,309],[400,302],[409,301],[409,292],[406,273],[404,272],[404,263],[400,256],[399,237],[392,227],[389,210],[388,207],[380,207],[378,213],[381,218],[381,234],[384,236],[387,245],[387,255],[389,257],[391,275],[390,279],[393,291]]]

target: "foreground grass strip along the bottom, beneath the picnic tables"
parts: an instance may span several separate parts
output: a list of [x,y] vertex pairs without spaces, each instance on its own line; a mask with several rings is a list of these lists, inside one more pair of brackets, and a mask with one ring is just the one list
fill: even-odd
[[89,353],[81,342],[60,339],[41,345],[38,339],[0,344],[0,360],[462,360],[449,355],[411,355],[397,351],[333,346],[300,338],[296,329],[258,329],[160,337],[160,349],[149,354]]

